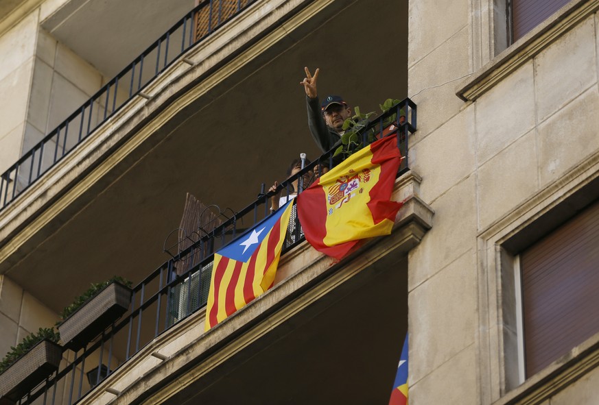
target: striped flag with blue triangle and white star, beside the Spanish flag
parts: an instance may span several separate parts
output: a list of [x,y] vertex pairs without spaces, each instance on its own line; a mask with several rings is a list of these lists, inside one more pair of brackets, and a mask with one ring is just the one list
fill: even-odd
[[205,330],[270,289],[293,200],[214,254]]

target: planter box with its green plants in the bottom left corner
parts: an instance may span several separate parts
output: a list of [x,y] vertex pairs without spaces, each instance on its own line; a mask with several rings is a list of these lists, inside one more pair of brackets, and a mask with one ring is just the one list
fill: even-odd
[[60,365],[62,347],[54,328],[40,328],[11,347],[0,362],[0,403],[21,400],[34,386],[54,373]]

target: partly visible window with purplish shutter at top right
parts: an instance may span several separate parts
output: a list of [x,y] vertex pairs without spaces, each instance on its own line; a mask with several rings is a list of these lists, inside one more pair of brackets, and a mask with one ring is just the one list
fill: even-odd
[[569,0],[508,0],[508,43],[513,44]]

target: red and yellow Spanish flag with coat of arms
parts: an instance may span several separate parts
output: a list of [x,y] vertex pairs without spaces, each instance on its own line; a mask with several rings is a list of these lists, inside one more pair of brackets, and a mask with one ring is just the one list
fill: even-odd
[[391,201],[401,154],[397,138],[377,140],[318,178],[297,197],[307,241],[343,258],[361,239],[388,235],[401,203]]

